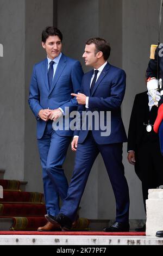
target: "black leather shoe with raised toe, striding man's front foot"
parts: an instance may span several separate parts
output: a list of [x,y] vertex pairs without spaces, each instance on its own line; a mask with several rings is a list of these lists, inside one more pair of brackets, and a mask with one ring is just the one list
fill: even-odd
[[45,218],[46,220],[48,220],[53,224],[54,223],[60,224],[60,227],[62,228],[62,230],[70,230],[72,227],[72,221],[70,220],[70,218],[68,218],[64,214],[59,214],[54,217],[52,215],[46,214]]

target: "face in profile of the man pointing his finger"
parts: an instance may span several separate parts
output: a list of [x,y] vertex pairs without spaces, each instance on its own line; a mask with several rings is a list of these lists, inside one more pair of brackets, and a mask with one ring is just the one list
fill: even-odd
[[90,44],[85,46],[85,52],[83,54],[83,58],[85,60],[86,66],[94,66],[97,63],[98,53],[95,54],[95,52],[96,52],[95,44]]

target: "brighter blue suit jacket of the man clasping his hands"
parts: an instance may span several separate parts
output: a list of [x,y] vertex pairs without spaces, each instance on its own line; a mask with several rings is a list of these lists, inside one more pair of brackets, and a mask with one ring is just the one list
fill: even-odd
[[[78,103],[71,93],[78,93],[82,83],[83,70],[80,62],[66,57],[63,53],[54,75],[53,85],[49,90],[47,58],[34,65],[30,82],[29,106],[37,119],[37,139],[42,138],[46,122],[37,117],[41,109],[70,108],[77,109]],[[73,131],[57,130],[60,136],[72,136]]]

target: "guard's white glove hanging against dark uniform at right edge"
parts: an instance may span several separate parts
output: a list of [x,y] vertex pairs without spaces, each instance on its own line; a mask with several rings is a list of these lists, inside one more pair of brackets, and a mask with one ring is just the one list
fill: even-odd
[[152,100],[149,101],[149,106],[158,106],[159,100],[161,99],[160,93],[158,92],[158,80],[155,77],[150,77],[147,80],[147,89],[149,95],[152,96]]

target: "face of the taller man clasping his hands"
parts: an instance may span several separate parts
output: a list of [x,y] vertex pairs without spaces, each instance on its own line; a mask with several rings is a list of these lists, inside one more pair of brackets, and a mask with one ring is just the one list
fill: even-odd
[[49,59],[59,56],[62,49],[62,43],[58,35],[49,35],[46,42],[42,42],[42,47],[46,50]]

